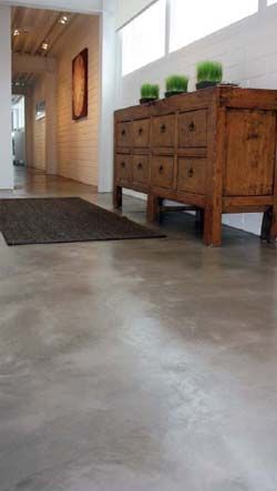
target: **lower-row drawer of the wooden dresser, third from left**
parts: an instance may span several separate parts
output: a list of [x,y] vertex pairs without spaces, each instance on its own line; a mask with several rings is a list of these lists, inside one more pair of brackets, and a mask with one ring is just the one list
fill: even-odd
[[173,187],[174,158],[172,156],[153,156],[151,182],[153,186]]

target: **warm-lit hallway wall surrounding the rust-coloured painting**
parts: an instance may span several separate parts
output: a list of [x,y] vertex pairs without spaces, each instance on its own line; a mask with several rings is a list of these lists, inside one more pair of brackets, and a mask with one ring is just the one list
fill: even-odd
[[[89,49],[89,116],[72,120],[72,60]],[[58,47],[59,174],[98,185],[99,162],[99,19],[81,17]]]

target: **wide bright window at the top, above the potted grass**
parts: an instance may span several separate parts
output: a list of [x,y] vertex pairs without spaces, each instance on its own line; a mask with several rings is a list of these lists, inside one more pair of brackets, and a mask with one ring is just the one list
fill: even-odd
[[178,50],[257,11],[258,0],[171,0],[170,51]]

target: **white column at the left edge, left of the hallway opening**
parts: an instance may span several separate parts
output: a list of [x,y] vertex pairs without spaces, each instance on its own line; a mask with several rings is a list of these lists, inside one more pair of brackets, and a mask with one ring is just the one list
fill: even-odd
[[0,6],[0,188],[13,188],[11,145],[11,11]]

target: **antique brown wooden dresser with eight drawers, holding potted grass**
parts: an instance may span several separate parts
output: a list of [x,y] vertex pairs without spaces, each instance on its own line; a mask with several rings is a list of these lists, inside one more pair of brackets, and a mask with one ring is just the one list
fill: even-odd
[[204,242],[219,246],[222,214],[264,212],[277,237],[277,91],[216,86],[114,115],[114,205],[122,188],[204,211]]

